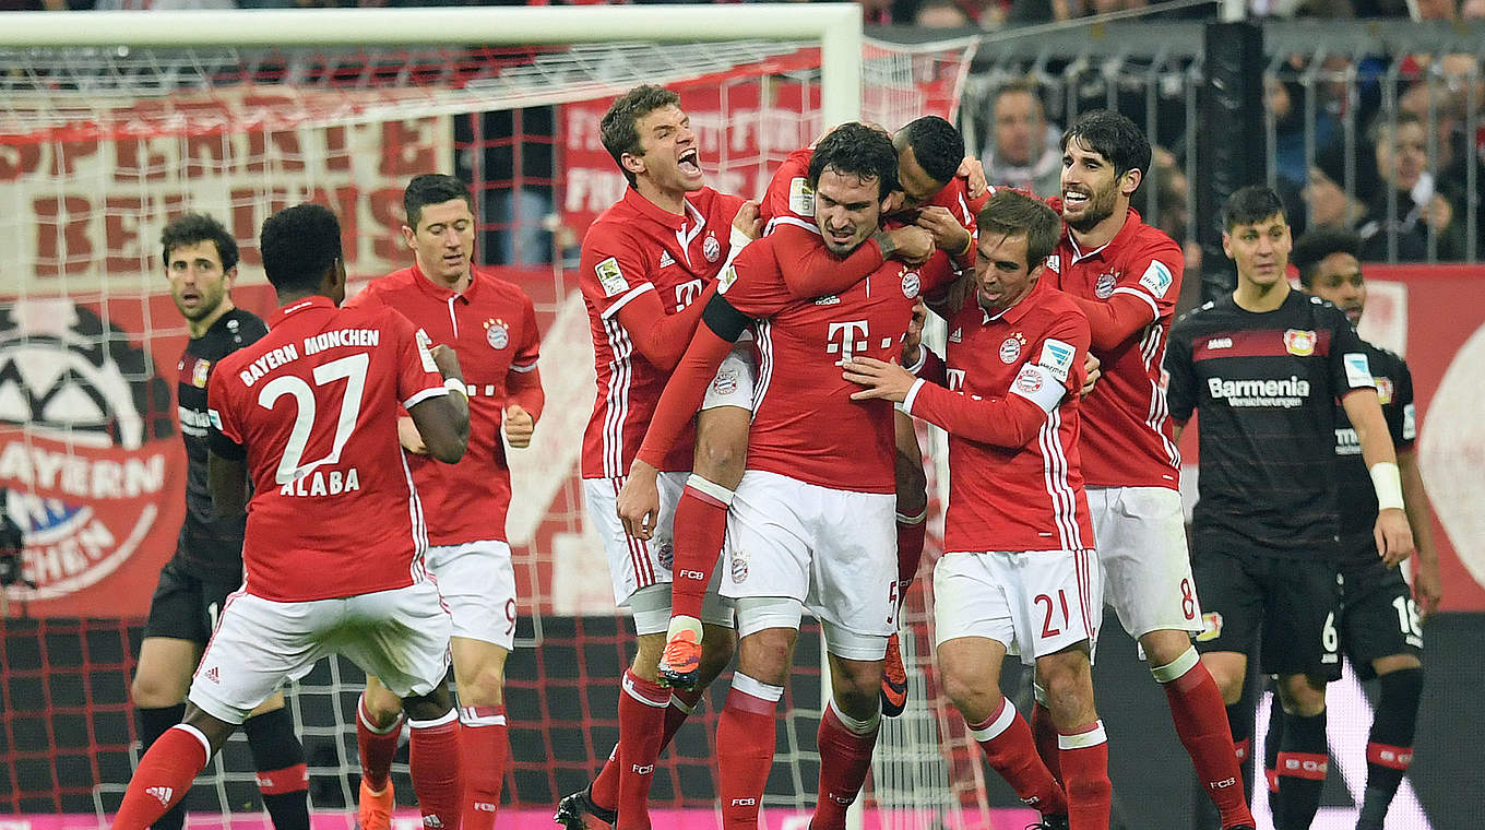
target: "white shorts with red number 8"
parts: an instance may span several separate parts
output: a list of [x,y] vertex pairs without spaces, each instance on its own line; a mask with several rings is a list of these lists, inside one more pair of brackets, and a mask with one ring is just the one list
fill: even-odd
[[1201,631],[1201,604],[1181,493],[1167,487],[1089,487],[1093,537],[1099,540],[1103,601],[1124,631]]

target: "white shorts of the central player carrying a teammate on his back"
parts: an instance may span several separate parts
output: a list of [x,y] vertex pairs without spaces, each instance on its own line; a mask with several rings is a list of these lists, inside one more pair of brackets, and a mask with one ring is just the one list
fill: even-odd
[[[897,631],[895,511],[892,493],[833,490],[750,469],[728,515],[722,595],[796,600],[829,627],[881,640],[885,650]],[[744,637],[757,630],[751,606],[738,603]]]

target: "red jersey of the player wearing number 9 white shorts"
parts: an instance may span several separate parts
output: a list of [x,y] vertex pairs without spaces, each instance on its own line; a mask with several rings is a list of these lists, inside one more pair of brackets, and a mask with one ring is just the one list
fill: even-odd
[[[422,328],[434,343],[459,355],[469,392],[469,448],[456,465],[408,456],[417,496],[428,517],[432,545],[505,540],[505,514],[511,506],[511,468],[500,441],[500,420],[508,402],[526,399],[512,391],[536,377],[541,333],[532,298],[517,285],[474,269],[474,281],[454,293],[429,281],[414,264],[377,279],[346,307],[386,306]],[[514,388],[514,389],[512,389]],[[539,407],[541,385],[536,383]],[[532,411],[532,417],[538,417]]]

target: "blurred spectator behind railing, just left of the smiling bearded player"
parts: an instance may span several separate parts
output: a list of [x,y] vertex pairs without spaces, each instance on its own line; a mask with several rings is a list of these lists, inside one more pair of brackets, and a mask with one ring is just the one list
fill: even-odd
[[1023,187],[1038,196],[1062,189],[1062,134],[1047,123],[1037,82],[1013,80],[990,104],[990,143],[982,162],[992,184]]

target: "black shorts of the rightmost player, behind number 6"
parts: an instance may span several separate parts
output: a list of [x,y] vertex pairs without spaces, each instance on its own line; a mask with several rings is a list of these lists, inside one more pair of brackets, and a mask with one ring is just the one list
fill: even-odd
[[1423,625],[1412,591],[1402,569],[1384,567],[1381,560],[1341,566],[1339,628],[1341,649],[1362,680],[1377,677],[1377,658],[1423,658]]

